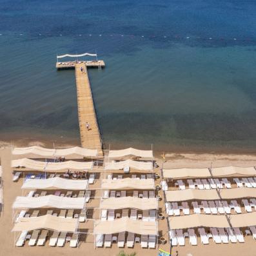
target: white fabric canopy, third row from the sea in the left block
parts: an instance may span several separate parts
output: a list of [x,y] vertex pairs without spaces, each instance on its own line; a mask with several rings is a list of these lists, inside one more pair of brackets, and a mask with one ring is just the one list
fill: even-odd
[[27,179],[21,188],[39,190],[86,190],[87,180],[62,179],[54,177],[50,179]]

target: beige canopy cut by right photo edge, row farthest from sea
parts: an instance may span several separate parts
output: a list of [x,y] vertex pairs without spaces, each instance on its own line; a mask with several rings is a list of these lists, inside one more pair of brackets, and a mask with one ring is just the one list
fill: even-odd
[[233,228],[244,228],[256,225],[256,212],[232,214],[230,222]]

